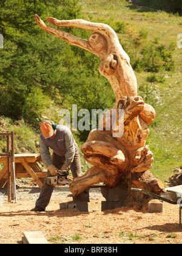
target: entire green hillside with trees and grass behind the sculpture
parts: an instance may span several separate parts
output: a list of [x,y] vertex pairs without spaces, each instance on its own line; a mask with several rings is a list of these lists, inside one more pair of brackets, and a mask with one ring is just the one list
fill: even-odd
[[[1,0],[0,131],[15,132],[15,153],[39,152],[38,124],[59,122],[59,110],[112,108],[109,82],[99,74],[99,58],[40,29],[33,18],[84,20],[109,24],[130,57],[138,95],[155,108],[147,144],[151,171],[167,180],[181,162],[182,34],[181,0]],[[90,32],[61,28],[81,38]],[[2,42],[0,46],[2,45]],[[182,46],[182,42],[181,42]],[[74,132],[79,147],[88,131]],[[0,152],[5,152],[0,137]],[[81,153],[83,171],[89,164]],[[0,169],[2,165],[0,166]]]

